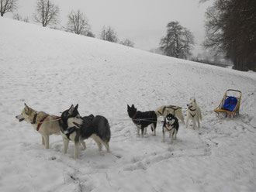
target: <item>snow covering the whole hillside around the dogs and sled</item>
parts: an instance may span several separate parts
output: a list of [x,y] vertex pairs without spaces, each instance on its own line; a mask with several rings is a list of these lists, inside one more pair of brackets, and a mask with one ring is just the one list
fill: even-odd
[[[0,191],[254,191],[256,188],[256,75],[178,60],[100,39],[0,18]],[[242,91],[240,115],[216,117],[229,88]],[[178,105],[190,97],[202,128],[180,124],[174,144],[150,129],[137,137],[126,112]],[[104,115],[111,153],[92,139],[74,159],[61,135],[50,149],[16,115],[24,102],[60,115],[79,104],[81,115]]]

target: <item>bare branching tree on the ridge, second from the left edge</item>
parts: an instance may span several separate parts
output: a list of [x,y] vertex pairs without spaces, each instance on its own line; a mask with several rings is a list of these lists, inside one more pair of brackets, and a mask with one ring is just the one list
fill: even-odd
[[59,11],[59,7],[49,0],[38,0],[36,3],[36,13],[34,15],[35,20],[36,22],[42,23],[43,26],[56,24]]

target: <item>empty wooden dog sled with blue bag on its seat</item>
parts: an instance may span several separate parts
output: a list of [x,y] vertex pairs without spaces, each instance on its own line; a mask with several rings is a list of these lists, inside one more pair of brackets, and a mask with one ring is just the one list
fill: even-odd
[[223,114],[225,117],[230,115],[231,118],[234,118],[234,116],[239,114],[241,97],[241,91],[228,89],[225,92],[220,105],[214,109],[216,115],[219,116],[220,114]]

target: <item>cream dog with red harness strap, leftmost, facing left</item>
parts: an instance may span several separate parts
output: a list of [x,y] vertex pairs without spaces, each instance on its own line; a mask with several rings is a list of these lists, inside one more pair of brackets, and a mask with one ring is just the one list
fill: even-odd
[[60,117],[49,115],[43,111],[35,111],[25,104],[22,113],[16,116],[19,122],[25,120],[31,123],[34,129],[42,135],[42,144],[46,149],[49,149],[49,135],[60,135],[60,126],[58,120]]

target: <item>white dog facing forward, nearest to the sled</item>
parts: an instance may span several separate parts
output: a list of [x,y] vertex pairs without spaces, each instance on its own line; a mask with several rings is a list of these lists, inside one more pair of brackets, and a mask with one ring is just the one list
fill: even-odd
[[197,106],[195,98],[190,98],[187,117],[185,120],[185,127],[188,128],[189,118],[192,118],[193,121],[193,129],[195,130],[195,120],[197,121],[198,128],[200,128],[200,120],[202,121],[202,114],[200,108]]

